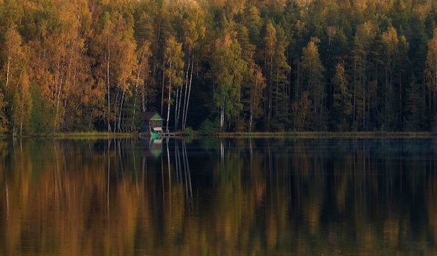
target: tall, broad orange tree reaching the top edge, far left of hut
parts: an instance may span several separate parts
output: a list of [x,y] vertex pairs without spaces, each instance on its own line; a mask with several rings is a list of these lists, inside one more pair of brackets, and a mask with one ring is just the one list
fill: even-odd
[[[82,2],[83,3],[83,2]],[[76,107],[80,103],[77,97],[82,98],[82,85],[89,79],[86,73],[87,57],[84,57],[84,34],[87,27],[82,27],[87,19],[87,5],[80,5],[80,1],[66,1],[56,3],[54,9],[58,15],[60,29],[51,33],[41,45],[47,51],[45,75],[51,80],[42,84],[43,94],[54,106],[53,130],[67,126],[64,116],[71,112],[68,107]],[[62,42],[62,43],[61,43]],[[80,93],[77,96],[77,93]],[[75,102],[71,102],[75,96]],[[69,123],[71,124],[71,123]]]

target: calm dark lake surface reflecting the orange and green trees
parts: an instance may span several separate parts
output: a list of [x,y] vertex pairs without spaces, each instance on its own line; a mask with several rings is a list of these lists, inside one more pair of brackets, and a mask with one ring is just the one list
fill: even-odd
[[437,140],[0,142],[0,255],[437,255]]

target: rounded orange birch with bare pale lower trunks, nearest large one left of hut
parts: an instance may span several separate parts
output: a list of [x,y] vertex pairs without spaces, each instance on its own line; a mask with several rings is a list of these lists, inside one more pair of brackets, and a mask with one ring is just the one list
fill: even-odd
[[[131,96],[136,66],[136,43],[133,24],[120,13],[103,13],[101,33],[96,36],[94,50],[99,63],[98,83],[104,83],[107,93],[106,121],[108,131],[121,131],[122,110],[126,96]],[[111,122],[113,123],[111,125]]]

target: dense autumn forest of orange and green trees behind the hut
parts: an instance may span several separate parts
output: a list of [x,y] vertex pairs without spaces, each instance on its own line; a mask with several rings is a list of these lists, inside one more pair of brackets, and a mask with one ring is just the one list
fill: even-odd
[[0,0],[0,133],[437,130],[434,0]]

